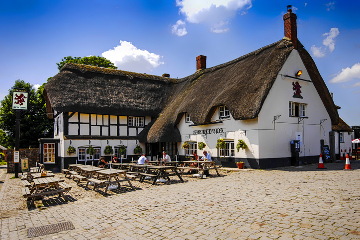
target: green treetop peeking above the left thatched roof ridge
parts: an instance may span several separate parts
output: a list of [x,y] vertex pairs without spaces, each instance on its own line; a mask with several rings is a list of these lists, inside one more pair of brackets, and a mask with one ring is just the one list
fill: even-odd
[[61,59],[60,63],[56,63],[58,65],[58,69],[60,69],[66,64],[66,63],[78,63],[78,64],[85,64],[90,66],[96,66],[96,67],[103,67],[108,69],[117,69],[117,67],[114,66],[113,63],[111,63],[110,60],[107,60],[106,58],[99,57],[99,56],[91,56],[91,57],[65,57]]

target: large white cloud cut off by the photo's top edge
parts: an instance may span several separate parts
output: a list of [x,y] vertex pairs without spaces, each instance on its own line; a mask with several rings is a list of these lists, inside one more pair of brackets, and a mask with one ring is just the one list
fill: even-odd
[[176,0],[176,4],[188,22],[209,24],[216,33],[227,32],[228,20],[253,6],[252,0]]

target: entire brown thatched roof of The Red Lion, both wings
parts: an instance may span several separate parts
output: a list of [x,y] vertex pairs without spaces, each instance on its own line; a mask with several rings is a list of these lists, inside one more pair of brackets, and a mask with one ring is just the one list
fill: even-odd
[[[221,105],[228,107],[235,120],[257,118],[292,50],[293,43],[282,39],[179,80],[66,64],[45,85],[44,95],[56,111],[153,116],[138,135],[140,142],[181,142],[176,125],[186,112],[194,124],[208,123]],[[339,115],[329,90],[300,42],[298,52],[332,124],[337,124]]]

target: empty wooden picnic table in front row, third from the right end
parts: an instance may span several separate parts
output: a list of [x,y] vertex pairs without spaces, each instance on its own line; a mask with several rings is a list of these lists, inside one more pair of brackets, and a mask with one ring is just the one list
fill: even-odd
[[[105,185],[106,186],[104,191],[104,195],[105,195],[109,185],[116,183],[120,187],[120,182],[127,181],[131,189],[134,189],[133,185],[130,182],[130,178],[135,176],[126,175],[125,170],[107,168],[107,169],[97,170],[96,173],[97,173],[96,178],[88,178],[88,182],[85,188],[88,187],[90,182],[94,183],[94,187],[92,188],[92,190],[95,190],[96,185],[99,186]],[[123,178],[120,179],[119,177],[123,177]]]

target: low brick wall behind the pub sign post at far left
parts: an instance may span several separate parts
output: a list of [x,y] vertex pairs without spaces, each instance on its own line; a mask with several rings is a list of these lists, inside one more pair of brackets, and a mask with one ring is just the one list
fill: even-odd
[[[28,159],[29,167],[35,167],[36,163],[39,162],[39,149],[20,149],[19,158],[19,173],[21,173],[21,159]],[[7,173],[14,173],[14,150],[7,150]]]

